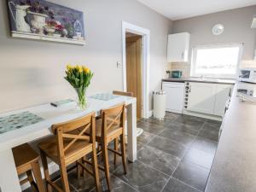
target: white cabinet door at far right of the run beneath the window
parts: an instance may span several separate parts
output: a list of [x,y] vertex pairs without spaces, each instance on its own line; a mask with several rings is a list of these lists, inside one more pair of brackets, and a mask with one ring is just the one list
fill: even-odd
[[215,93],[216,99],[214,105],[215,115],[224,115],[225,104],[231,95],[232,87],[233,86],[230,84],[217,84]]

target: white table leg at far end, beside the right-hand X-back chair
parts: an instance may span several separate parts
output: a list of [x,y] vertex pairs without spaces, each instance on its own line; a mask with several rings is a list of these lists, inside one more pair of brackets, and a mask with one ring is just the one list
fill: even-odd
[[132,102],[127,108],[128,160],[137,160],[137,103]]

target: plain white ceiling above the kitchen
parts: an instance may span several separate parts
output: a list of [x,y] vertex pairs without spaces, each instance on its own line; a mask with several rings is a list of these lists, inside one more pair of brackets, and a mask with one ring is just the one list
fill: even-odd
[[[256,0],[138,0],[171,20],[206,15],[256,4]],[[256,13],[255,13],[256,14]]]

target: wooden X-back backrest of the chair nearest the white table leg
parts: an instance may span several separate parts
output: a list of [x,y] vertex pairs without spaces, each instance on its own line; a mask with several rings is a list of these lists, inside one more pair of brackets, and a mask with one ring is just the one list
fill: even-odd
[[107,137],[108,130],[112,127],[125,129],[125,103],[102,109],[102,138]]

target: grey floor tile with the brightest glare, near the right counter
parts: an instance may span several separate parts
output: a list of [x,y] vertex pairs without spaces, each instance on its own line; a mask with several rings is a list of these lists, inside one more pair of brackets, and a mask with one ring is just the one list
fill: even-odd
[[212,161],[215,153],[208,153],[201,149],[189,148],[183,160],[189,160],[192,163],[195,163],[199,166],[204,166],[207,169],[210,169],[212,166]]

